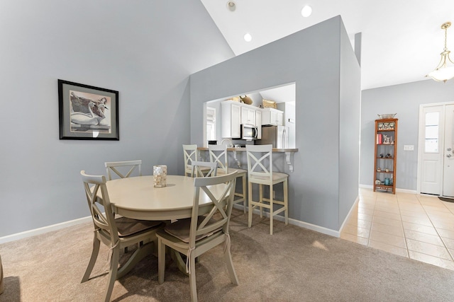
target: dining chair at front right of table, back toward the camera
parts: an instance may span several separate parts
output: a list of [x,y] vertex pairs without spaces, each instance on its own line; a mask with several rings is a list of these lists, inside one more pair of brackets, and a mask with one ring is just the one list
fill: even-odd
[[[197,301],[195,260],[204,252],[223,243],[223,257],[231,282],[238,285],[230,251],[228,233],[235,192],[236,172],[210,178],[194,178],[194,202],[190,219],[169,223],[157,231],[157,280],[164,282],[166,246],[187,255],[191,301]],[[220,187],[221,186],[221,187]],[[221,190],[220,190],[221,189]],[[211,203],[199,207],[199,198]],[[204,214],[204,215],[203,215]]]

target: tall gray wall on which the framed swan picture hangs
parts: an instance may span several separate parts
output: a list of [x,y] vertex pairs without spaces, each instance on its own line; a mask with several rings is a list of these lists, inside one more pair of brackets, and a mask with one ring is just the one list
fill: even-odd
[[[199,0],[2,0],[0,37],[0,237],[88,216],[104,161],[182,174],[189,75],[233,57]],[[120,141],[60,141],[57,79],[119,91]]]

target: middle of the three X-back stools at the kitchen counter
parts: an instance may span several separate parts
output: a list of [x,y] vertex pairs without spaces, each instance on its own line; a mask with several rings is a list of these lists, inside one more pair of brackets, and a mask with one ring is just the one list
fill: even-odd
[[230,168],[228,166],[228,153],[226,145],[209,145],[208,146],[210,161],[217,163],[218,175],[225,175],[236,171],[237,178],[241,178],[241,192],[235,192],[238,197],[233,200],[234,204],[243,202],[243,211],[246,212],[246,174],[247,170],[239,168]]

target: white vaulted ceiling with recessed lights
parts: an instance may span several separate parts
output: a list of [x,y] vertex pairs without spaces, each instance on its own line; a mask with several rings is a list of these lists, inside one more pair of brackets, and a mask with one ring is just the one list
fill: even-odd
[[[340,15],[352,43],[361,33],[362,89],[428,79],[443,51],[446,21],[453,23],[448,49],[454,52],[453,0],[233,0],[235,11],[228,0],[201,2],[236,55]],[[312,8],[307,18],[305,5]]]

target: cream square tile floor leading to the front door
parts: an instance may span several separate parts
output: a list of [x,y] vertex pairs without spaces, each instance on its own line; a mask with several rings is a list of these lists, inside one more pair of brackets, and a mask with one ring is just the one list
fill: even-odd
[[454,203],[360,189],[341,238],[454,270]]

